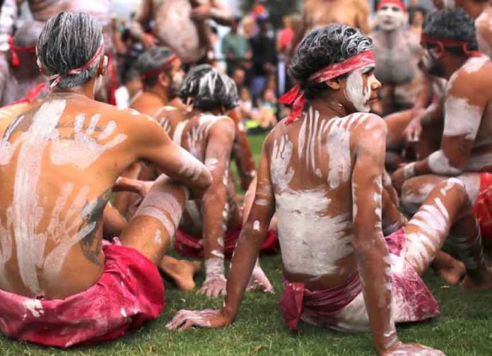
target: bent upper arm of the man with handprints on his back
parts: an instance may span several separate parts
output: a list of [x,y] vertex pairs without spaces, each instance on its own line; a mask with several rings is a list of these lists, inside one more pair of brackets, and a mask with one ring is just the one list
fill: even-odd
[[209,170],[197,158],[177,146],[157,121],[141,115],[131,129],[136,141],[136,159],[153,163],[170,178],[187,186],[193,198],[200,198],[211,184]]

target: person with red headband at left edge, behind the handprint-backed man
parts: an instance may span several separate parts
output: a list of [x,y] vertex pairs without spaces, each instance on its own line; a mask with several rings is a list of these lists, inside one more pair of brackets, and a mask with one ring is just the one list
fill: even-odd
[[33,102],[49,93],[46,78],[36,64],[36,42],[43,25],[28,21],[9,38],[10,51],[0,57],[0,107]]

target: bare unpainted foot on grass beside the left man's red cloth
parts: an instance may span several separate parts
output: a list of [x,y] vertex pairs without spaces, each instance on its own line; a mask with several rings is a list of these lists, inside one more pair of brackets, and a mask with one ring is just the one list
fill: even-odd
[[160,268],[172,278],[180,290],[193,290],[195,287],[193,277],[200,271],[201,262],[180,261],[170,256],[165,256],[160,263]]

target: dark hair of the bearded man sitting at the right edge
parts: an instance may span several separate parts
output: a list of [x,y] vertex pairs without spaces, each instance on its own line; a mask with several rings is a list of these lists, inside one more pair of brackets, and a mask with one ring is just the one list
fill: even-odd
[[[462,8],[443,8],[430,13],[423,23],[423,32],[438,40],[467,42],[469,50],[478,49],[474,22]],[[465,54],[462,46],[445,47],[451,53]]]

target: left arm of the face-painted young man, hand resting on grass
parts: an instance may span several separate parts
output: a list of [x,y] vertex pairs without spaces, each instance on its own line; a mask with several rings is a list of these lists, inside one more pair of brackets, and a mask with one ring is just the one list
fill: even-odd
[[266,238],[270,220],[275,211],[275,199],[269,172],[268,142],[269,139],[266,138],[262,158],[259,162],[258,184],[253,208],[242,228],[231,262],[225,306],[221,310],[215,311],[210,309],[201,312],[182,310],[168,324],[168,328],[189,328],[193,325],[219,328],[227,326],[235,320],[254,263]]

